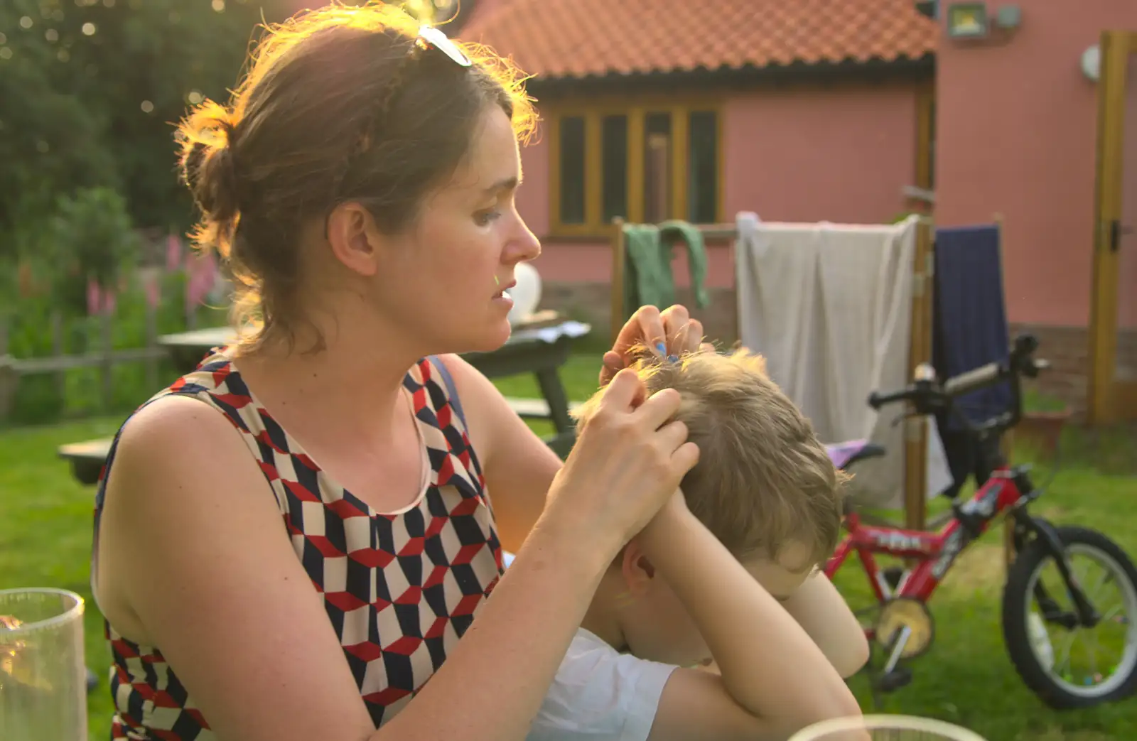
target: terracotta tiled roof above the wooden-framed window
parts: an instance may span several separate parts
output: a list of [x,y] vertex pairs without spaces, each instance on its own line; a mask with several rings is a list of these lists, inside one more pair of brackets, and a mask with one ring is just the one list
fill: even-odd
[[498,0],[462,39],[542,77],[919,59],[914,0]]

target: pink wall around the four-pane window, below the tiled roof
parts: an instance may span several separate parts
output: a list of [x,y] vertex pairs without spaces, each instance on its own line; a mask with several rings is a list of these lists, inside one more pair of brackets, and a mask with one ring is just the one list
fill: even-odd
[[[763,90],[727,101],[723,111],[723,213],[742,210],[780,222],[890,220],[901,190],[915,177],[915,86],[879,84]],[[534,267],[548,283],[607,284],[607,242],[549,234],[549,142],[541,133],[522,150],[517,208],[542,238]],[[711,245],[707,283],[733,285],[729,245]],[[688,282],[686,256],[675,280]],[[583,301],[590,303],[591,301]]]

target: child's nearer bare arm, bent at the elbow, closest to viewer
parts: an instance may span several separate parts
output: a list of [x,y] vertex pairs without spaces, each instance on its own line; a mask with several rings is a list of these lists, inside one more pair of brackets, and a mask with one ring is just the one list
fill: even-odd
[[813,640],[691,515],[681,496],[639,539],[722,673],[674,671],[648,741],[785,739],[818,721],[861,714]]

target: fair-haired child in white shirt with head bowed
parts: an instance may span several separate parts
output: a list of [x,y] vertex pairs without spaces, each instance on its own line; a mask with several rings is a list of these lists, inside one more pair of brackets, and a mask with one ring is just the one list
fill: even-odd
[[682,394],[699,463],[612,564],[529,741],[786,739],[860,715],[843,676],[869,647],[816,569],[843,476],[808,421],[745,350],[634,367]]

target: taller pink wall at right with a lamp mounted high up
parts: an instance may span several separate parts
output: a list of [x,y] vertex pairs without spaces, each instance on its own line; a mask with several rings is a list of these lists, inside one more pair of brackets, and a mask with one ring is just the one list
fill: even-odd
[[[1137,30],[1137,2],[1018,5],[1022,25],[1006,39],[956,42],[945,34],[940,41],[936,220],[990,223],[1001,214],[1011,322],[1086,327],[1097,103],[1079,59],[1102,30]],[[988,8],[994,13],[996,3]],[[1130,131],[1129,150],[1137,153],[1137,117]],[[1127,159],[1132,200],[1137,160]],[[1137,250],[1137,236],[1128,241],[1129,251]],[[1121,280],[1132,293],[1137,260],[1126,270]],[[1123,318],[1137,326],[1137,301],[1128,302]]]

